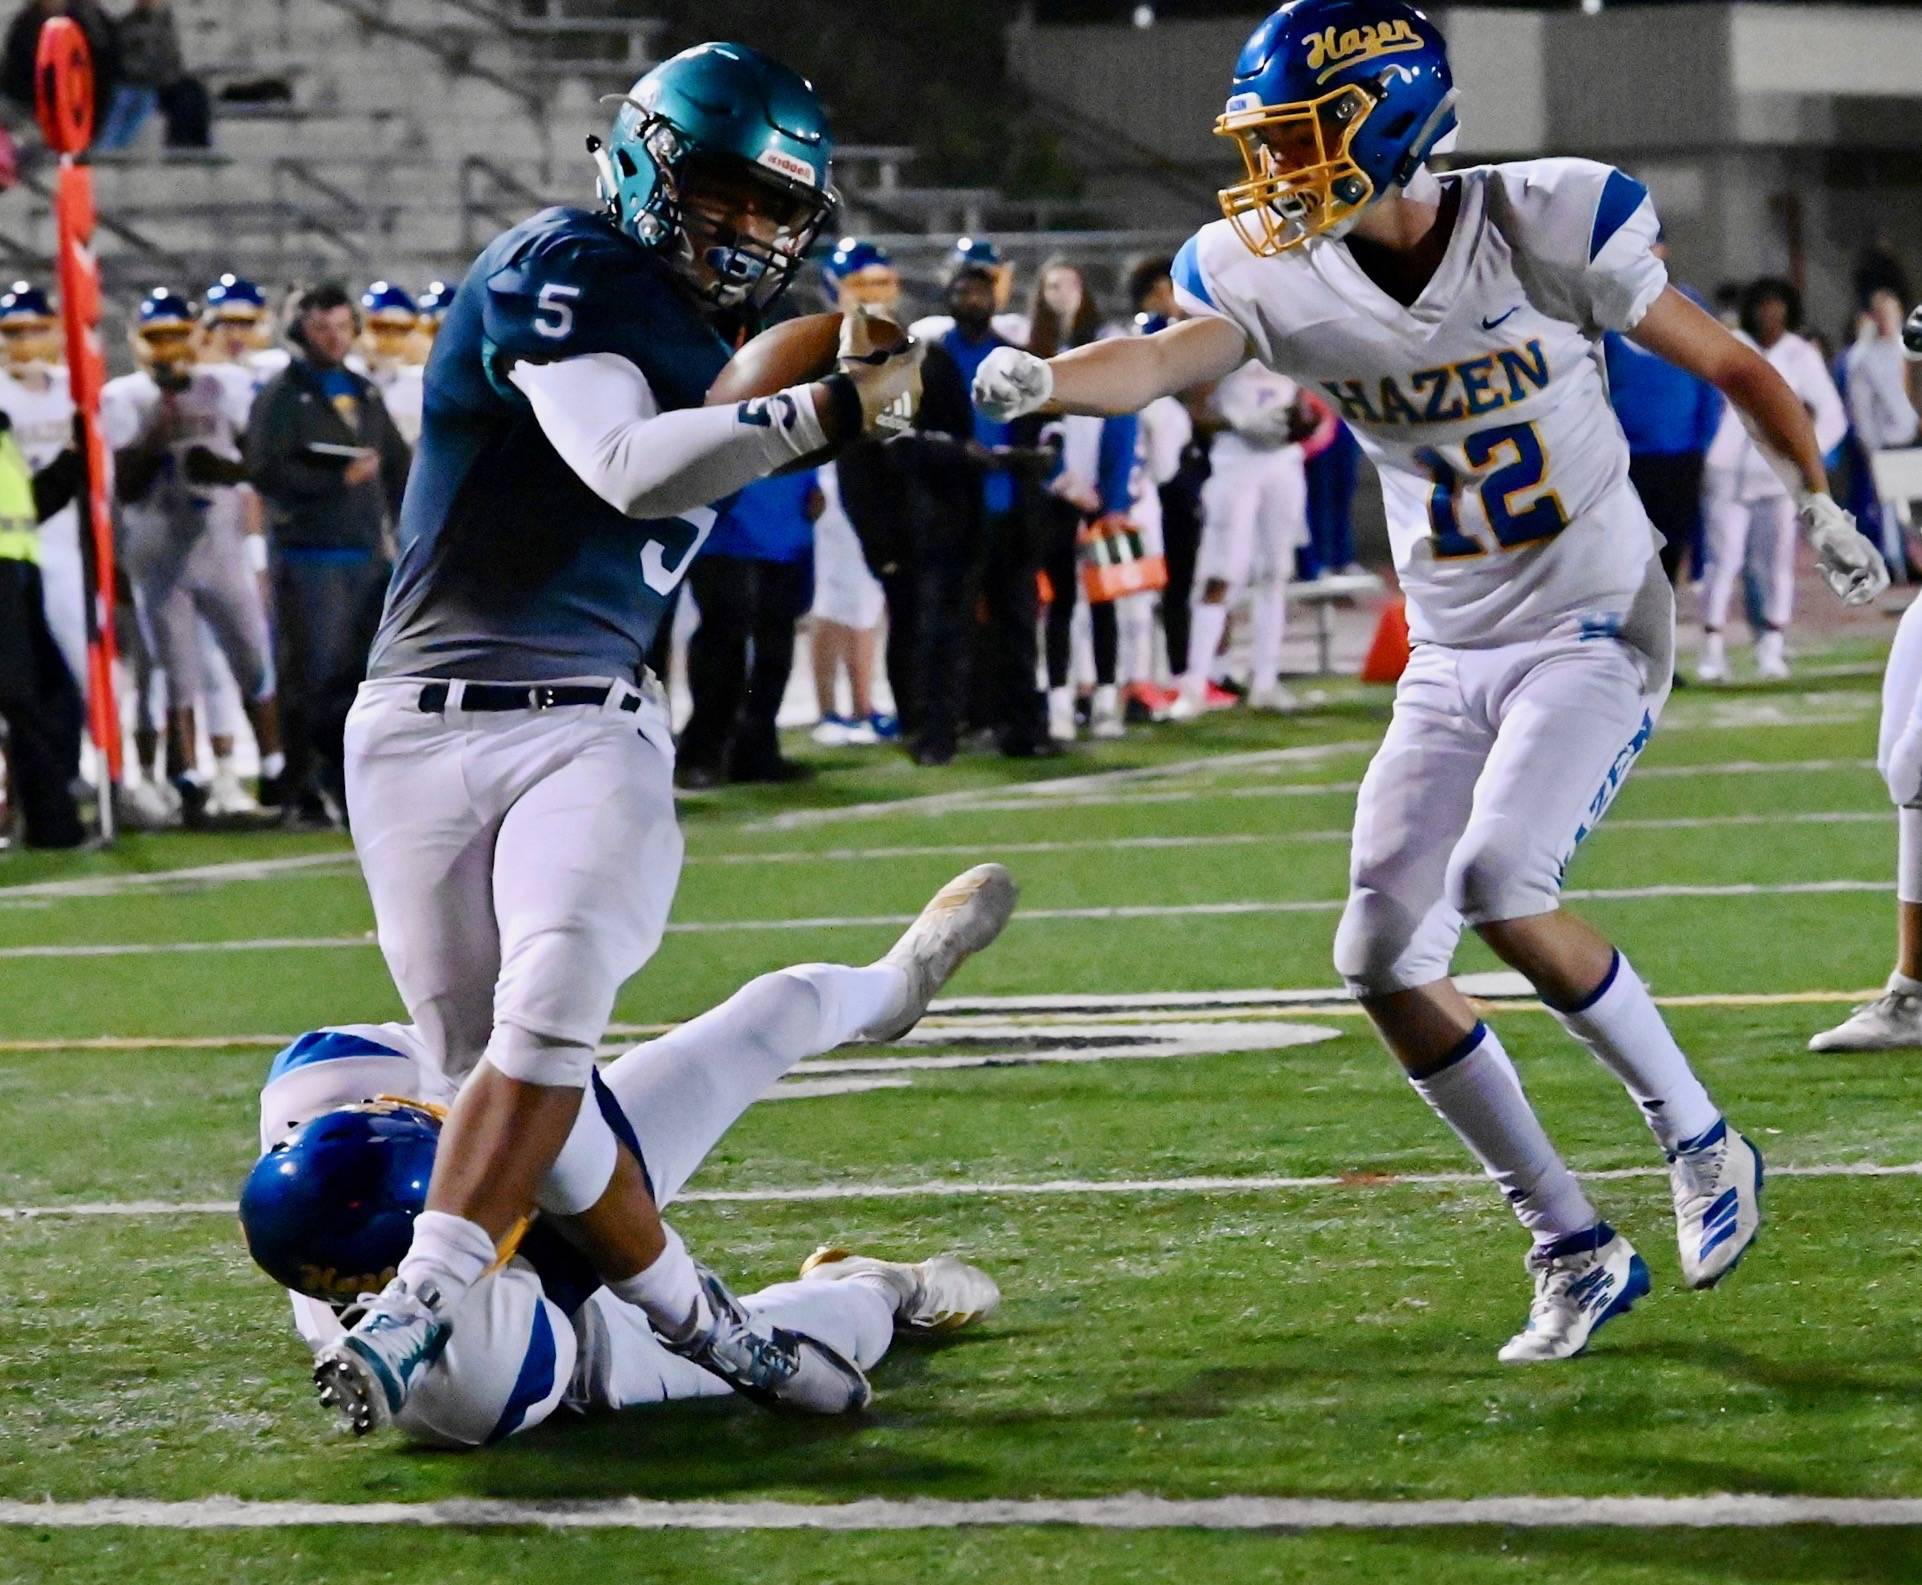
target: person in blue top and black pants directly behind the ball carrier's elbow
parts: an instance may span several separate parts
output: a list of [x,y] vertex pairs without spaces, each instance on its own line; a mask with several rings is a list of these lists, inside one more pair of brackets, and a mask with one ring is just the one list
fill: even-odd
[[794,671],[794,624],[813,596],[821,505],[813,473],[761,478],[728,503],[688,569],[702,621],[688,642],[694,713],[677,753],[682,788],[809,774],[782,757],[775,717]]

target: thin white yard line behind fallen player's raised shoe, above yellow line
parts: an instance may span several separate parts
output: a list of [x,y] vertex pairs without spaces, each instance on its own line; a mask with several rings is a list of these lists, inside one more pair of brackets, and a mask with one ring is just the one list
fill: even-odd
[[[1889,880],[1791,880],[1776,884],[1732,882],[1720,886],[1595,886],[1574,888],[1563,895],[1570,901],[1649,901],[1661,897],[1820,897],[1845,893],[1893,891]],[[1059,920],[1122,920],[1122,918],[1209,918],[1236,914],[1326,914],[1340,913],[1342,897],[1282,897],[1276,901],[1226,903],[1115,903],[1084,909],[1021,909],[1017,924]],[[899,928],[913,914],[817,914],[813,918],[698,918],[667,926],[669,936],[748,936],[763,930],[882,930]],[[6,959],[65,959],[65,957],[171,957],[177,953],[267,953],[267,951],[340,951],[346,947],[375,947],[373,934],[363,936],[269,936],[242,941],[92,941],[38,943],[0,947]]]

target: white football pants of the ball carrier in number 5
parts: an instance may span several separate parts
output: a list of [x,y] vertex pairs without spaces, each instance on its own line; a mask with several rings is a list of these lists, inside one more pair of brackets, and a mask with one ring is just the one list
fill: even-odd
[[354,849],[381,951],[454,1080],[496,1024],[590,1051],[667,928],[682,853],[667,711],[652,686],[555,686],[573,682],[607,701],[465,711],[454,682],[444,709],[423,711],[421,678],[382,678],[348,715]]

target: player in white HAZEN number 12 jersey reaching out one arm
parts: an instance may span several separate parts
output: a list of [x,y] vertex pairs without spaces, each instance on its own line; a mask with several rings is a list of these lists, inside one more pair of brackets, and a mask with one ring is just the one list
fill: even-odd
[[1336,966],[1534,1235],[1534,1303],[1501,1358],[1568,1358],[1649,1274],[1449,980],[1465,922],[1641,1105],[1689,1287],[1753,1241],[1762,1182],[1628,961],[1559,909],[1576,843],[1655,730],[1674,638],[1601,332],[1728,396],[1793,480],[1843,599],[1887,574],[1830,500],[1801,402],[1668,286],[1638,183],[1584,159],[1424,169],[1455,131],[1455,90],[1420,12],[1294,0],[1247,40],[1215,129],[1247,179],[1176,259],[1192,317],[1051,363],[996,352],[974,400],[998,419],[1117,413],[1255,355],[1324,392],[1374,459],[1415,655],[1361,788]]

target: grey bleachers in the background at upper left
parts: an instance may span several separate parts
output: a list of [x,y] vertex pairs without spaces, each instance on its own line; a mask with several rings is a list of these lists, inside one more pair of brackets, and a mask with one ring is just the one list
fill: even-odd
[[[504,225],[588,196],[582,136],[607,119],[598,100],[661,42],[659,23],[613,15],[621,4],[177,0],[186,60],[215,98],[213,148],[161,148],[156,117],[135,148],[94,156],[110,298],[221,269],[263,282],[459,273]],[[1080,204],[926,184],[913,165],[907,146],[836,152],[840,225],[886,236],[907,267],[957,232],[1074,229],[1117,256],[1161,240],[1103,231]],[[44,163],[29,159],[6,202],[0,269],[44,271]]]

